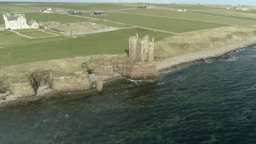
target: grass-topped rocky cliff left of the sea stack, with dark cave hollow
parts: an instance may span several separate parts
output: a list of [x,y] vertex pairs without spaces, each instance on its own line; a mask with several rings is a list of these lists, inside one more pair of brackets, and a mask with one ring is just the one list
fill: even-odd
[[[8,73],[10,69],[15,69],[15,73]],[[56,92],[92,88],[88,72],[75,59],[11,65],[0,71],[0,78],[3,79],[0,85],[0,106],[12,101],[34,100]]]

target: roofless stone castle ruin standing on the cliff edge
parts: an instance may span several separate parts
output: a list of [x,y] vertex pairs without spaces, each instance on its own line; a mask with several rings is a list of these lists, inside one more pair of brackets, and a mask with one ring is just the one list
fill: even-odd
[[154,61],[154,38],[149,39],[148,35],[139,39],[138,34],[129,39],[129,60],[130,61]]

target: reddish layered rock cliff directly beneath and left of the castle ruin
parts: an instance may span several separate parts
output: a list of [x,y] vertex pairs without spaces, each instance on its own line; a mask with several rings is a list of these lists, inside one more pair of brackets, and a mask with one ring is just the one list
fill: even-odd
[[127,56],[124,55],[92,56],[88,66],[94,69],[97,76],[105,80],[109,77],[120,76],[133,80],[159,77],[155,62],[129,62]]

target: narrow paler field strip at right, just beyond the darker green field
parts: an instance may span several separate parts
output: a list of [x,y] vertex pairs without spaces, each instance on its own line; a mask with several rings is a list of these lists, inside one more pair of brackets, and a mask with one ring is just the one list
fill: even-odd
[[229,19],[228,17],[198,15],[198,14],[184,13],[184,12],[172,11],[172,10],[135,9],[135,10],[124,10],[124,12],[135,13],[135,14],[170,16],[170,17],[177,17],[182,19],[200,20],[200,21],[220,22],[220,23],[227,23],[229,25],[238,25],[238,26],[254,25],[255,23],[253,21],[246,21],[246,20],[241,21],[236,19]]

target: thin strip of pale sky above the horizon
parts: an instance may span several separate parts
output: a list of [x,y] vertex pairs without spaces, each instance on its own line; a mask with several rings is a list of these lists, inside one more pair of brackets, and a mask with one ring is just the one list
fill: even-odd
[[241,0],[0,0],[0,2],[23,2],[23,3],[95,3],[95,2],[101,2],[101,3],[138,3],[138,2],[146,2],[146,3],[203,3],[203,4],[217,4],[217,5],[256,5],[256,1],[252,2],[251,0],[245,0],[241,2]]

